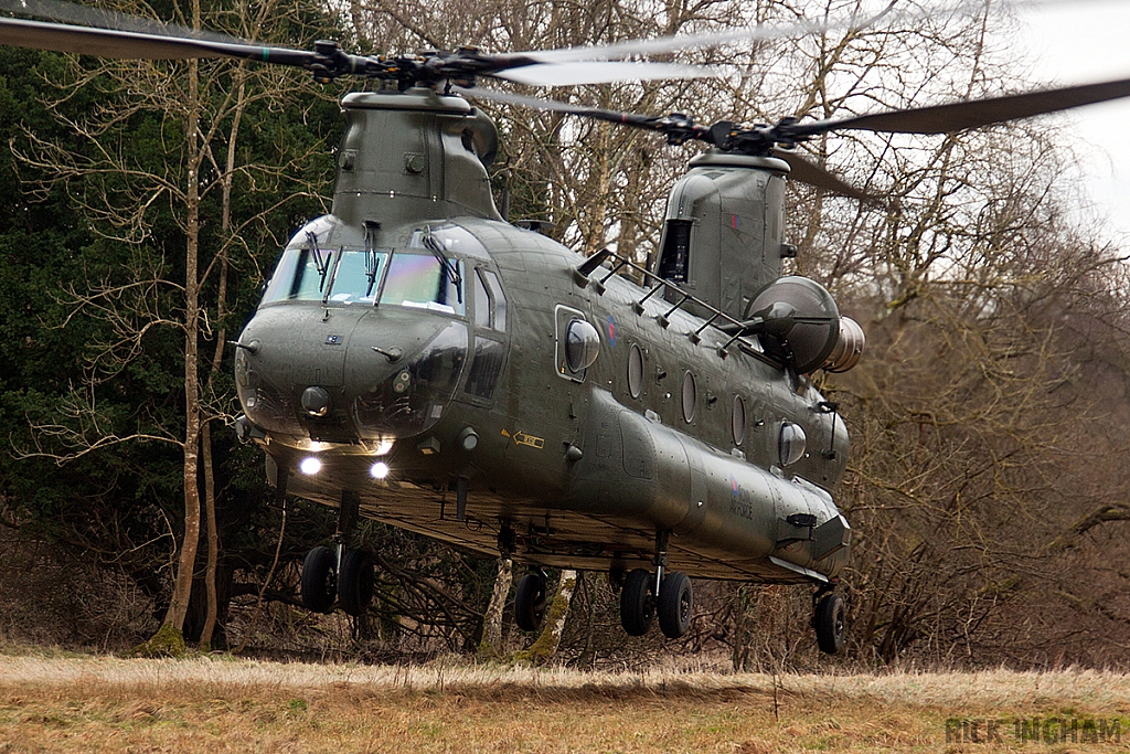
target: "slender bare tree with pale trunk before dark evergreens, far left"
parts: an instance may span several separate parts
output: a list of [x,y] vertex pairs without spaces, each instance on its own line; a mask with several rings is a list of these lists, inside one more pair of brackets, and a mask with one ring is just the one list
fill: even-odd
[[[128,10],[138,12],[138,8]],[[199,0],[174,9],[176,20],[200,29],[205,14]],[[253,38],[267,19],[281,28],[303,12],[299,7],[264,3],[252,12],[241,3],[208,18],[214,28],[227,28]],[[67,292],[73,317],[94,317],[110,326],[111,337],[92,344],[85,383],[66,404],[69,415],[59,424],[38,427],[36,454],[50,454],[66,462],[110,444],[159,440],[176,444],[183,456],[183,534],[176,546],[177,562],[173,590],[162,630],[153,647],[160,649],[181,639],[192,589],[200,532],[201,452],[203,489],[208,509],[208,580],[215,578],[219,547],[215,523],[215,477],[208,423],[229,415],[231,397],[217,393],[214,378],[223,358],[224,321],[231,311],[228,275],[233,253],[251,251],[252,235],[271,239],[263,225],[279,202],[298,197],[316,197],[294,175],[302,174],[307,154],[294,146],[275,145],[272,164],[240,161],[242,119],[249,107],[278,107],[297,102],[296,95],[310,86],[295,75],[276,70],[250,70],[229,61],[165,63],[151,61],[103,61],[87,68],[71,61],[70,78],[61,84],[62,95],[54,111],[73,131],[82,149],[49,144],[28,132],[31,149],[24,163],[45,174],[42,189],[63,184],[95,232],[111,244],[131,249],[131,263],[121,275],[107,274],[89,291]],[[87,88],[103,93],[99,107],[89,115],[68,116],[69,97]],[[310,97],[316,98],[319,95]],[[324,96],[324,95],[322,95]],[[310,101],[307,99],[307,102]],[[155,130],[166,151],[139,155],[124,142],[140,125]],[[221,155],[217,159],[217,154]],[[281,193],[275,206],[236,220],[232,210],[235,183],[249,191]],[[202,208],[219,194],[220,223],[216,231],[205,227]],[[155,216],[171,216],[182,233],[183,257],[168,263],[155,246],[150,231]],[[277,244],[273,241],[272,244]],[[254,267],[243,258],[242,267]],[[209,293],[215,300],[203,298]],[[209,315],[209,307],[211,314]],[[219,330],[214,329],[218,323]],[[183,414],[181,430],[144,416],[133,431],[118,432],[99,414],[97,393],[112,376],[121,373],[147,347],[147,339],[163,328],[179,330],[183,338]],[[210,358],[201,345],[215,339]],[[207,376],[201,378],[206,373]],[[215,622],[215,587],[209,587],[209,619],[202,641],[207,644]]]

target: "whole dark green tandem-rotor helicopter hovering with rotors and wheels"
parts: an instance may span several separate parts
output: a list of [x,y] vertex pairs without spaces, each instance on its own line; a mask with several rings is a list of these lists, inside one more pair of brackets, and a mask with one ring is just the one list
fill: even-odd
[[[817,370],[863,352],[815,280],[781,276],[790,174],[868,199],[791,149],[843,130],[945,133],[1130,95],[1130,79],[843,120],[712,125],[519,97],[480,79],[588,84],[702,75],[619,60],[712,40],[486,54],[363,57],[0,18],[0,44],[124,59],[232,58],[318,80],[385,83],[341,101],[332,211],[287,244],[236,346],[242,440],[279,499],[339,510],[336,549],[306,556],[303,600],[362,614],[373,518],[529,566],[515,622],[533,630],[542,569],[605,571],[620,618],[669,638],[689,577],[815,587],[825,652],[844,641],[834,589],[852,530],[832,493],[849,440]],[[711,148],[671,190],[652,269],[581,254],[506,222],[487,167],[498,135],[468,96],[658,131]],[[631,272],[644,285],[626,279]]]

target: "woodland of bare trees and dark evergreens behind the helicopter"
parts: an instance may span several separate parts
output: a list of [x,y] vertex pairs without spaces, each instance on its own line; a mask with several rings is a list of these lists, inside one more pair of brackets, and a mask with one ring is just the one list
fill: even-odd
[[[193,0],[197,3],[197,0]],[[884,3],[885,5],[885,3]],[[245,38],[403,52],[528,50],[845,18],[855,0],[205,0],[119,10]],[[711,122],[827,118],[1024,87],[996,2],[905,9],[862,31],[680,54],[727,76],[557,89]],[[337,99],[302,71],[115,62],[0,47],[0,640],[129,648],[168,623],[212,648],[384,660],[473,653],[497,563],[368,523],[359,621],[299,606],[332,511],[272,508],[231,430],[234,339],[286,239],[328,211]],[[695,148],[481,103],[512,218],[644,260]],[[818,657],[807,590],[696,584],[678,642],[628,639],[581,574],[556,661],[1130,666],[1127,267],[1054,118],[930,139],[809,145],[888,198],[790,189],[794,270],[863,324],[820,376],[852,434],[837,502],[857,539],[846,659]],[[185,480],[189,484],[185,484]],[[184,547],[185,525],[200,546]],[[191,538],[191,537],[190,537]],[[188,564],[186,567],[184,564]],[[192,574],[177,590],[175,575]],[[215,599],[209,600],[209,587]],[[212,603],[214,610],[209,610]],[[214,619],[211,619],[214,618]],[[658,632],[653,632],[657,634]],[[203,634],[203,636],[201,636]],[[502,648],[528,644],[505,617]]]

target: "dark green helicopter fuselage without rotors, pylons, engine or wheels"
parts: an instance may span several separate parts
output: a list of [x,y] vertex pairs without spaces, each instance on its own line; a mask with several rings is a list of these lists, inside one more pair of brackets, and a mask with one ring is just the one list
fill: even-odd
[[537,565],[635,567],[669,531],[690,575],[843,567],[843,422],[755,341],[723,355],[702,319],[619,276],[585,285],[581,255],[499,220],[380,244],[351,227],[299,232],[240,338],[240,399],[290,492],[351,491],[365,515],[484,553],[512,531]]

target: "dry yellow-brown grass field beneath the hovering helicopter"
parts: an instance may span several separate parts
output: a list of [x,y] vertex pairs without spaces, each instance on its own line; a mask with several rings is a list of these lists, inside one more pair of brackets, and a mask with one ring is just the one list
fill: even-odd
[[3,754],[808,751],[1130,751],[1130,676],[890,673],[774,683],[451,661],[407,669],[0,655]]

